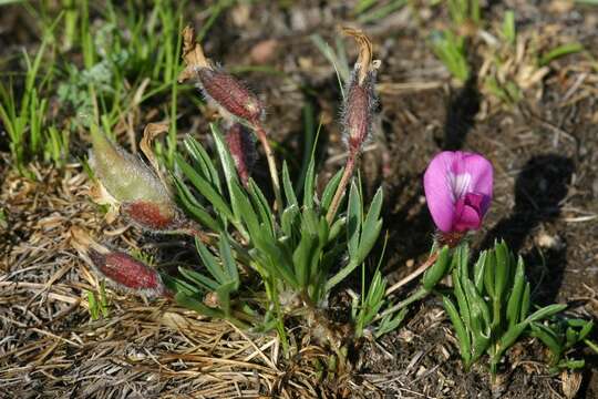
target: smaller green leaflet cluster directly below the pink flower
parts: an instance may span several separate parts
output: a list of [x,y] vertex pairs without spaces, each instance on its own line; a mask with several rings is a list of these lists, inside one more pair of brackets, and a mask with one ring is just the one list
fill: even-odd
[[443,303],[466,369],[486,354],[495,375],[505,351],[533,323],[566,308],[549,305],[530,314],[530,288],[523,259],[516,260],[504,242],[483,252],[473,268],[467,247],[460,246],[453,257],[452,277],[454,299],[444,296]]

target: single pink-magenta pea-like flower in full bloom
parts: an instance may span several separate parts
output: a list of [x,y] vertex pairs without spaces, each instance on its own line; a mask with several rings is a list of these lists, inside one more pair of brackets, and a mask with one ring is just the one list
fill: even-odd
[[427,208],[443,233],[478,229],[492,201],[493,168],[482,155],[444,151],[424,174]]

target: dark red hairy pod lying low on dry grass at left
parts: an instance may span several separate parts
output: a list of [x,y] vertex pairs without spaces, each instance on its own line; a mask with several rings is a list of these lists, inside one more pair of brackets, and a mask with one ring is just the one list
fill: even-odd
[[152,267],[122,252],[89,250],[95,268],[120,288],[132,289],[150,297],[168,296],[162,277]]

